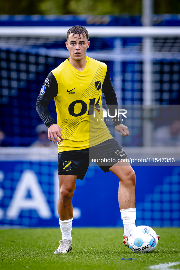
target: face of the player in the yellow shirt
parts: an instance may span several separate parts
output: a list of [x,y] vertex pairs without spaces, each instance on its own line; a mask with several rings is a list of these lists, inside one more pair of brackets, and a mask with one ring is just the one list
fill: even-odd
[[[79,36],[78,36],[79,37]],[[73,33],[69,34],[69,38],[66,41],[66,47],[69,50],[70,57],[76,61],[82,60],[86,57],[86,50],[89,48],[89,41],[87,41],[86,37],[84,38],[81,35],[81,38],[78,38],[77,35]]]

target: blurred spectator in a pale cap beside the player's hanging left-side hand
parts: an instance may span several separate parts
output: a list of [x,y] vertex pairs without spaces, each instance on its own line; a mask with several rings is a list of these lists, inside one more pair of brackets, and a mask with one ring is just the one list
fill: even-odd
[[36,127],[38,139],[31,144],[36,147],[57,147],[54,142],[50,142],[48,139],[48,128],[45,124],[39,124]]

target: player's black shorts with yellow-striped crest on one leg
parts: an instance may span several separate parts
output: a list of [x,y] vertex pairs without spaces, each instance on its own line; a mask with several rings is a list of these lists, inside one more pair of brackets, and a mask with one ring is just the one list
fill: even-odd
[[126,153],[115,139],[109,139],[90,148],[58,153],[58,174],[83,180],[91,160],[107,173],[121,159],[128,159]]

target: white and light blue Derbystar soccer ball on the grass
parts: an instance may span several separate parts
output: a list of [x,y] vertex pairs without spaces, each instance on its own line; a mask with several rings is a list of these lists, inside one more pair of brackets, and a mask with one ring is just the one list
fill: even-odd
[[157,234],[148,226],[138,226],[128,237],[128,244],[133,252],[153,252],[157,247]]

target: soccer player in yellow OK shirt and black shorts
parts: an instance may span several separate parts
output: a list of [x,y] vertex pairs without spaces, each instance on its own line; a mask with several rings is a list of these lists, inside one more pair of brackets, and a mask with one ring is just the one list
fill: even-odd
[[[102,107],[102,93],[110,114],[113,113],[111,105],[117,109],[118,103],[106,64],[86,56],[90,46],[88,38],[85,27],[73,26],[68,30],[65,44],[70,57],[50,72],[36,102],[37,112],[48,128],[48,139],[58,143],[58,213],[62,240],[55,254],[72,249],[72,196],[76,179],[83,180],[91,158],[112,160],[111,163],[97,164],[105,173],[111,171],[120,180],[118,201],[124,225],[123,243],[128,247],[128,235],[136,227],[135,172],[104,121],[98,121],[97,128],[93,123],[89,126],[89,119],[94,114],[92,106],[100,115],[98,118],[103,119],[102,110],[98,110]],[[47,108],[52,98],[56,104],[57,122]],[[129,135],[128,127],[120,119],[112,117],[112,120],[122,136]]]

